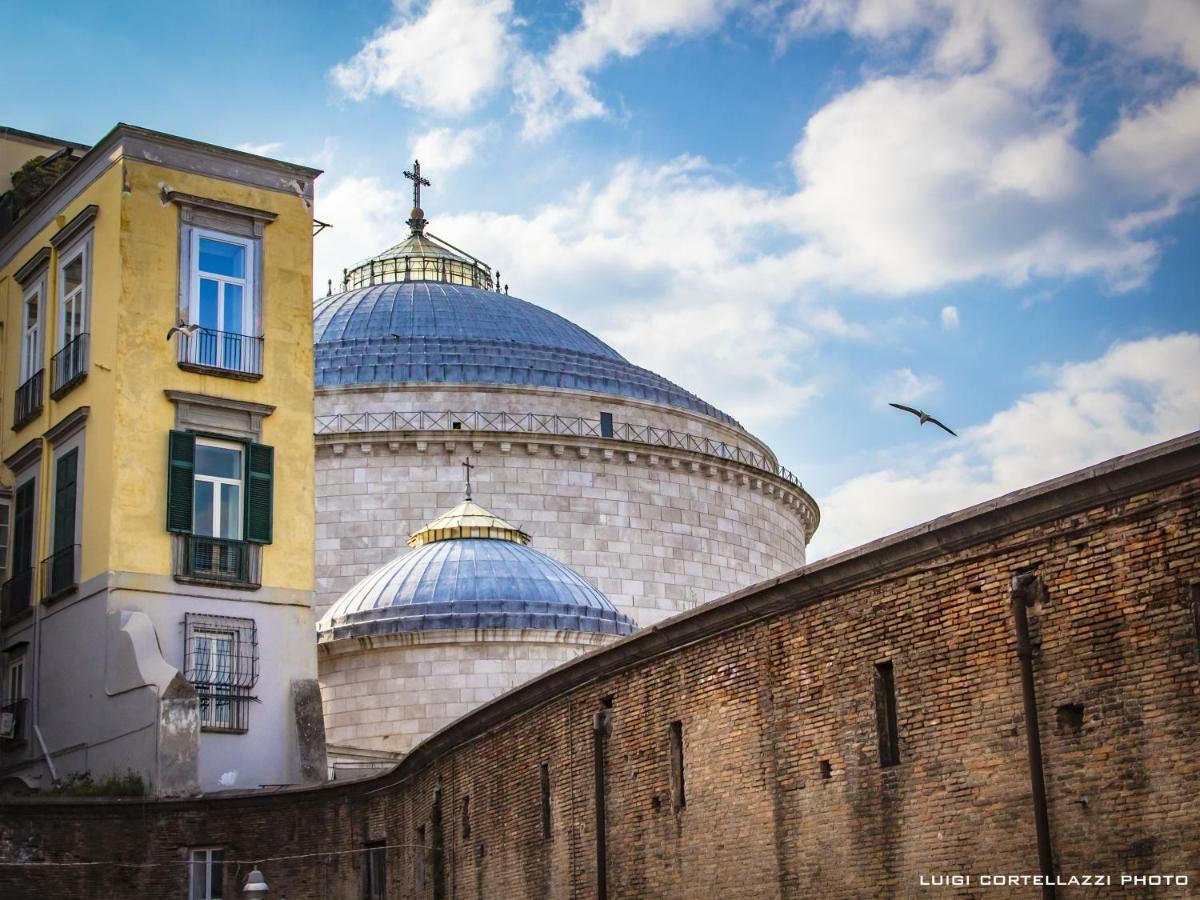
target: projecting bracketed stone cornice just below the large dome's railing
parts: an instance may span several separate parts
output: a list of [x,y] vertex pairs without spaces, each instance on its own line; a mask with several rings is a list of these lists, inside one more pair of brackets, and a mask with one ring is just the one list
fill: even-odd
[[[454,436],[452,438],[449,436]],[[518,432],[474,432],[474,431],[427,431],[427,432],[361,432],[318,434],[317,451],[325,450],[334,456],[343,456],[348,450],[364,456],[373,456],[377,451],[398,454],[401,449],[413,448],[418,454],[456,454],[472,452],[476,456],[485,450],[496,450],[502,455],[527,454],[536,456],[550,452],[562,457],[571,454],[580,460],[598,460],[600,462],[623,462],[628,466],[643,464],[649,468],[688,472],[721,481],[736,481],[743,487],[762,491],[767,497],[774,497],[781,505],[796,512],[804,524],[804,542],[821,524],[821,509],[812,496],[803,486],[793,484],[766,469],[755,468],[748,463],[709,456],[692,450],[677,450],[640,444],[616,438],[574,437],[568,434],[521,434]],[[469,450],[468,450],[469,449]]]

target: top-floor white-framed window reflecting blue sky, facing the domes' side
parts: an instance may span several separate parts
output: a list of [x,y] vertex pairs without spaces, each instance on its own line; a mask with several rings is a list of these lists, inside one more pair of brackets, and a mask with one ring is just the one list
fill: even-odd
[[187,322],[180,332],[180,361],[204,368],[262,374],[262,340],[256,331],[258,242],[192,228]]

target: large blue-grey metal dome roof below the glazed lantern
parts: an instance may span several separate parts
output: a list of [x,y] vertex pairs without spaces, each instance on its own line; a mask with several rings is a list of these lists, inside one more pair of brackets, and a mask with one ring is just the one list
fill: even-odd
[[562,388],[736,424],[562,316],[496,290],[439,281],[373,284],[319,300],[313,316],[318,388],[414,382]]

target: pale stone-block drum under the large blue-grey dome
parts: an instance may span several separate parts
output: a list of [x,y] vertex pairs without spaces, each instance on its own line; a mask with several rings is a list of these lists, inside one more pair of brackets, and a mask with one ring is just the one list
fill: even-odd
[[[317,415],[392,410],[538,412],[709,437],[769,454],[746,432],[676,409],[566,391],[320,391]],[[317,612],[406,552],[409,533],[475,498],[533,536],[640,625],[804,564],[816,506],[737,462],[620,440],[472,431],[319,434]],[[774,458],[774,457],[769,457]]]

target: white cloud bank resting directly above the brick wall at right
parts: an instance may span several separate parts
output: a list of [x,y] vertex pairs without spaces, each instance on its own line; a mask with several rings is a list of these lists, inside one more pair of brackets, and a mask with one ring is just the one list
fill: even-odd
[[[896,450],[835,487],[810,558],[864,544],[1009,491],[1188,433],[1200,424],[1200,335],[1121,343],[1049,372],[983,425]],[[942,438],[946,437],[943,440]]]

